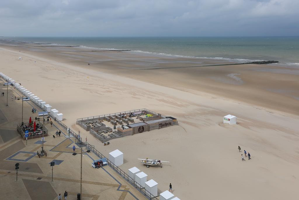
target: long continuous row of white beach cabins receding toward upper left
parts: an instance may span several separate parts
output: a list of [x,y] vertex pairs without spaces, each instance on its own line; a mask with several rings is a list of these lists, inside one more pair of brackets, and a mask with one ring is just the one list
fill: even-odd
[[[33,100],[37,105],[40,105],[42,108],[44,108],[47,112],[50,112],[51,115],[53,115],[54,117],[56,117],[57,120],[62,121],[62,117],[63,114],[60,113],[58,110],[56,109],[51,109],[52,106],[50,106],[49,104],[46,104],[45,101],[41,100],[39,97],[37,97],[35,94],[33,94],[32,92],[30,92],[28,89],[26,89],[24,86],[20,85],[19,83],[16,83],[15,80],[13,80],[12,78],[10,78],[9,76],[6,76],[4,73],[0,72],[0,76],[7,81],[7,84],[11,84],[14,85],[16,88],[19,89],[19,91],[21,91],[25,97],[23,98],[23,101],[26,100]],[[28,98],[28,99],[26,99]]]

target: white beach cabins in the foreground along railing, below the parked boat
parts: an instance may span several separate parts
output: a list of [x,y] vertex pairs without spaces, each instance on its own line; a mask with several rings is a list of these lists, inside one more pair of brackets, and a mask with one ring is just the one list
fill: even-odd
[[[116,149],[115,151],[109,153],[109,160],[116,166],[120,166],[123,164],[123,153]],[[140,172],[140,170],[137,167],[132,167],[131,169],[128,169],[128,175],[141,187],[144,187],[145,190],[149,191],[149,193],[151,193],[154,196],[158,196],[158,183],[153,179],[147,181],[146,173]],[[160,193],[160,200],[170,199],[180,200],[178,197],[174,197],[174,195],[170,193],[168,190],[164,191],[163,193]]]

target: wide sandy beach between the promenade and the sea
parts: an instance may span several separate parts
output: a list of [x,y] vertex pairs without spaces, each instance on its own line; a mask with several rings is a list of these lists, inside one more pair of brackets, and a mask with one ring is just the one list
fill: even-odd
[[[81,130],[82,138],[87,136],[106,157],[122,151],[120,168],[127,172],[138,167],[148,180],[158,182],[158,192],[172,183],[180,199],[297,196],[298,68],[186,67],[228,62],[7,43],[0,45],[0,63],[0,72],[62,112],[63,122]],[[179,126],[113,139],[104,146],[75,125],[77,118],[139,108],[173,116]],[[238,124],[223,124],[227,114],[237,116]],[[238,145],[250,152],[251,160],[241,161]],[[170,163],[146,168],[137,160],[145,157]]]

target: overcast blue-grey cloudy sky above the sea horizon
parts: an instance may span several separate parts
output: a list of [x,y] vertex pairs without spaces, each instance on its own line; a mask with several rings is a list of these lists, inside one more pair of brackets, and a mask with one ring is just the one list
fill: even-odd
[[299,0],[0,0],[1,36],[298,36]]

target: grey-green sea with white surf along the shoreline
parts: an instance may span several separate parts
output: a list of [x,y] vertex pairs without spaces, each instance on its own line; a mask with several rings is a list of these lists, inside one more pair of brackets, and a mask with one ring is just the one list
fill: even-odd
[[299,66],[299,37],[1,37],[82,48],[132,50],[233,62],[274,60]]

